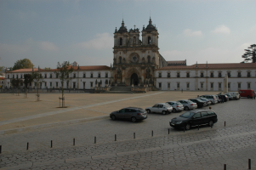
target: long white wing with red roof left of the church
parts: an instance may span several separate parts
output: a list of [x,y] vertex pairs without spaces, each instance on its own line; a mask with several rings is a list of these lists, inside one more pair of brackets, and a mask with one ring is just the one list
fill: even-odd
[[[78,89],[93,89],[97,80],[98,87],[105,87],[110,85],[111,80],[111,67],[106,65],[92,65],[92,66],[72,66],[73,72],[69,75],[70,82],[64,84],[64,88],[78,88]],[[38,71],[34,69],[20,69],[15,71],[7,71],[6,86],[10,88],[12,78],[24,79],[25,74],[31,74],[32,71]],[[40,84],[40,88],[60,88],[60,78],[56,77],[54,73],[56,69],[43,70],[39,69],[40,74],[43,77],[43,83]],[[100,84],[101,82],[101,84]],[[36,87],[35,82],[30,84],[31,88]]]

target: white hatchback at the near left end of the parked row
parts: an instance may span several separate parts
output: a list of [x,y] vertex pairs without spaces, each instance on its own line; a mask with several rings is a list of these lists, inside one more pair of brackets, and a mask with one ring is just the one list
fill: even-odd
[[173,111],[173,107],[171,105],[168,105],[167,103],[159,103],[153,105],[152,107],[145,108],[145,111],[147,111],[147,113],[155,112],[162,113],[162,115],[166,115]]

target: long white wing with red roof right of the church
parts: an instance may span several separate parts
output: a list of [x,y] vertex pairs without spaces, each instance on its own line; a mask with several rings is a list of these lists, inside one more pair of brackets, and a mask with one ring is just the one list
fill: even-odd
[[256,63],[172,65],[156,69],[156,88],[161,90],[223,91],[256,90]]

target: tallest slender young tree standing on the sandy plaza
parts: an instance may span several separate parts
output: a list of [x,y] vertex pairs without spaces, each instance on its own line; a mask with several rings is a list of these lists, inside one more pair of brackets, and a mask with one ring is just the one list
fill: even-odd
[[73,72],[73,68],[72,66],[69,65],[69,62],[64,61],[61,65],[60,62],[58,62],[57,65],[57,71],[54,71],[56,77],[60,78],[60,83],[61,83],[61,92],[62,92],[62,107],[64,107],[63,105],[63,100],[64,100],[64,82],[70,82],[71,78],[69,77],[69,74],[71,72]]

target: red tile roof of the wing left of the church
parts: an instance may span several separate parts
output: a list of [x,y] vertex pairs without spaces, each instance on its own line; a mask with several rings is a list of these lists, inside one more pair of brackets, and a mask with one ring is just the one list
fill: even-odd
[[[71,66],[70,66],[71,68]],[[78,66],[73,66],[74,71],[78,70]],[[79,71],[110,71],[111,67],[106,66],[106,65],[91,65],[91,66],[79,66]],[[19,69],[15,71],[7,71],[8,73],[16,73],[16,72],[31,72],[32,69]],[[34,71],[38,71],[37,68],[34,68]],[[52,71],[57,71],[57,69],[51,69],[51,70],[44,70],[40,69],[40,71],[47,71],[47,72],[52,72]]]

